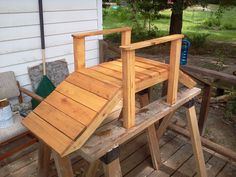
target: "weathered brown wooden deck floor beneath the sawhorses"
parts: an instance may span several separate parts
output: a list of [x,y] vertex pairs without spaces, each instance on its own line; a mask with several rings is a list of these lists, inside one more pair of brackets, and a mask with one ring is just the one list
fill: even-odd
[[[161,159],[163,165],[159,171],[154,171],[149,155],[149,148],[144,133],[121,146],[120,160],[125,177],[187,177],[196,176],[191,144],[180,135],[168,131],[160,141]],[[204,150],[208,177],[235,177],[236,165],[214,152]],[[79,177],[88,167],[88,163],[72,155],[75,174]],[[34,177],[37,176],[37,144],[25,151],[0,162],[1,177]],[[56,170],[51,163],[51,177],[56,177]],[[103,176],[103,169],[97,171],[98,177]]]

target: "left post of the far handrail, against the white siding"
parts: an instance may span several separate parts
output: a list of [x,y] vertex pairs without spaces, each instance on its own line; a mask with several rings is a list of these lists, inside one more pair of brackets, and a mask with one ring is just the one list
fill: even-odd
[[85,38],[73,37],[75,71],[85,68]]

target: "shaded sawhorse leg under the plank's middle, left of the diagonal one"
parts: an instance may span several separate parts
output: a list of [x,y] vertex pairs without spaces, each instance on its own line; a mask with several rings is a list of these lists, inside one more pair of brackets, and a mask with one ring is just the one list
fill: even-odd
[[159,147],[159,141],[156,134],[155,124],[152,124],[147,128],[147,138],[148,138],[148,146],[150,149],[150,154],[152,157],[152,164],[155,170],[159,169],[161,165],[161,153]]

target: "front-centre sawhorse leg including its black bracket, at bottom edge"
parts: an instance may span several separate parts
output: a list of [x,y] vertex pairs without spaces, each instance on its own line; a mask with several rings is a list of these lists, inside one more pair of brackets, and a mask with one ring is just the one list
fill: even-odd
[[122,177],[119,147],[112,149],[100,158],[103,163],[104,173],[106,177]]

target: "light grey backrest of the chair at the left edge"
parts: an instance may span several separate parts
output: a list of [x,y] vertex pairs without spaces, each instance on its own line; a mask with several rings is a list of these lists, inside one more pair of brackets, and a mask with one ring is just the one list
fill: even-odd
[[0,73],[0,99],[14,98],[20,95],[14,72]]

